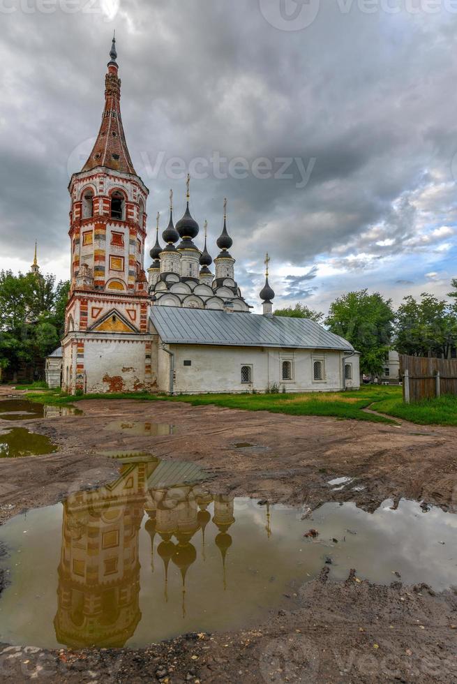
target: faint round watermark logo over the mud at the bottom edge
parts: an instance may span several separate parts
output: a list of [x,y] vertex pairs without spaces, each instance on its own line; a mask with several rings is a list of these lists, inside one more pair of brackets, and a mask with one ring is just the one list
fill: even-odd
[[301,634],[284,634],[269,641],[259,664],[267,684],[315,684],[319,679],[319,649]]

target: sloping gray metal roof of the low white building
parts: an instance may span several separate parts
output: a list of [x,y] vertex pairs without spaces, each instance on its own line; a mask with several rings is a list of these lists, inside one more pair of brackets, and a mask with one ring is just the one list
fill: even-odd
[[169,344],[354,351],[349,342],[308,318],[153,306],[151,321]]

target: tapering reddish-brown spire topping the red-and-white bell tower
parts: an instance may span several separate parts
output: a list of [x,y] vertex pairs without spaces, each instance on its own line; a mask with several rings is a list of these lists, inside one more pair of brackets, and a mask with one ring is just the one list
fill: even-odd
[[116,37],[113,36],[110,50],[110,61],[105,76],[105,110],[96,143],[84,164],[82,171],[90,171],[103,166],[114,171],[136,175],[130,154],[128,153],[126,136],[123,132],[121,117],[121,79],[117,75]]

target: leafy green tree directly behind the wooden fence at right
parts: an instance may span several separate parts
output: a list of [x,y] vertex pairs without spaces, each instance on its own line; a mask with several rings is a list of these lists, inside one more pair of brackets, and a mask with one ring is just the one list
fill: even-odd
[[446,358],[456,343],[457,316],[451,304],[427,292],[419,302],[411,295],[403,299],[396,315],[396,349],[400,354]]

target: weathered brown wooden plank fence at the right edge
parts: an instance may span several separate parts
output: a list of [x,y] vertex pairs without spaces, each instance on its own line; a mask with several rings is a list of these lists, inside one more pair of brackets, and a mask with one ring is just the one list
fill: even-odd
[[457,359],[431,359],[400,354],[403,401],[435,399],[442,394],[457,395]]

